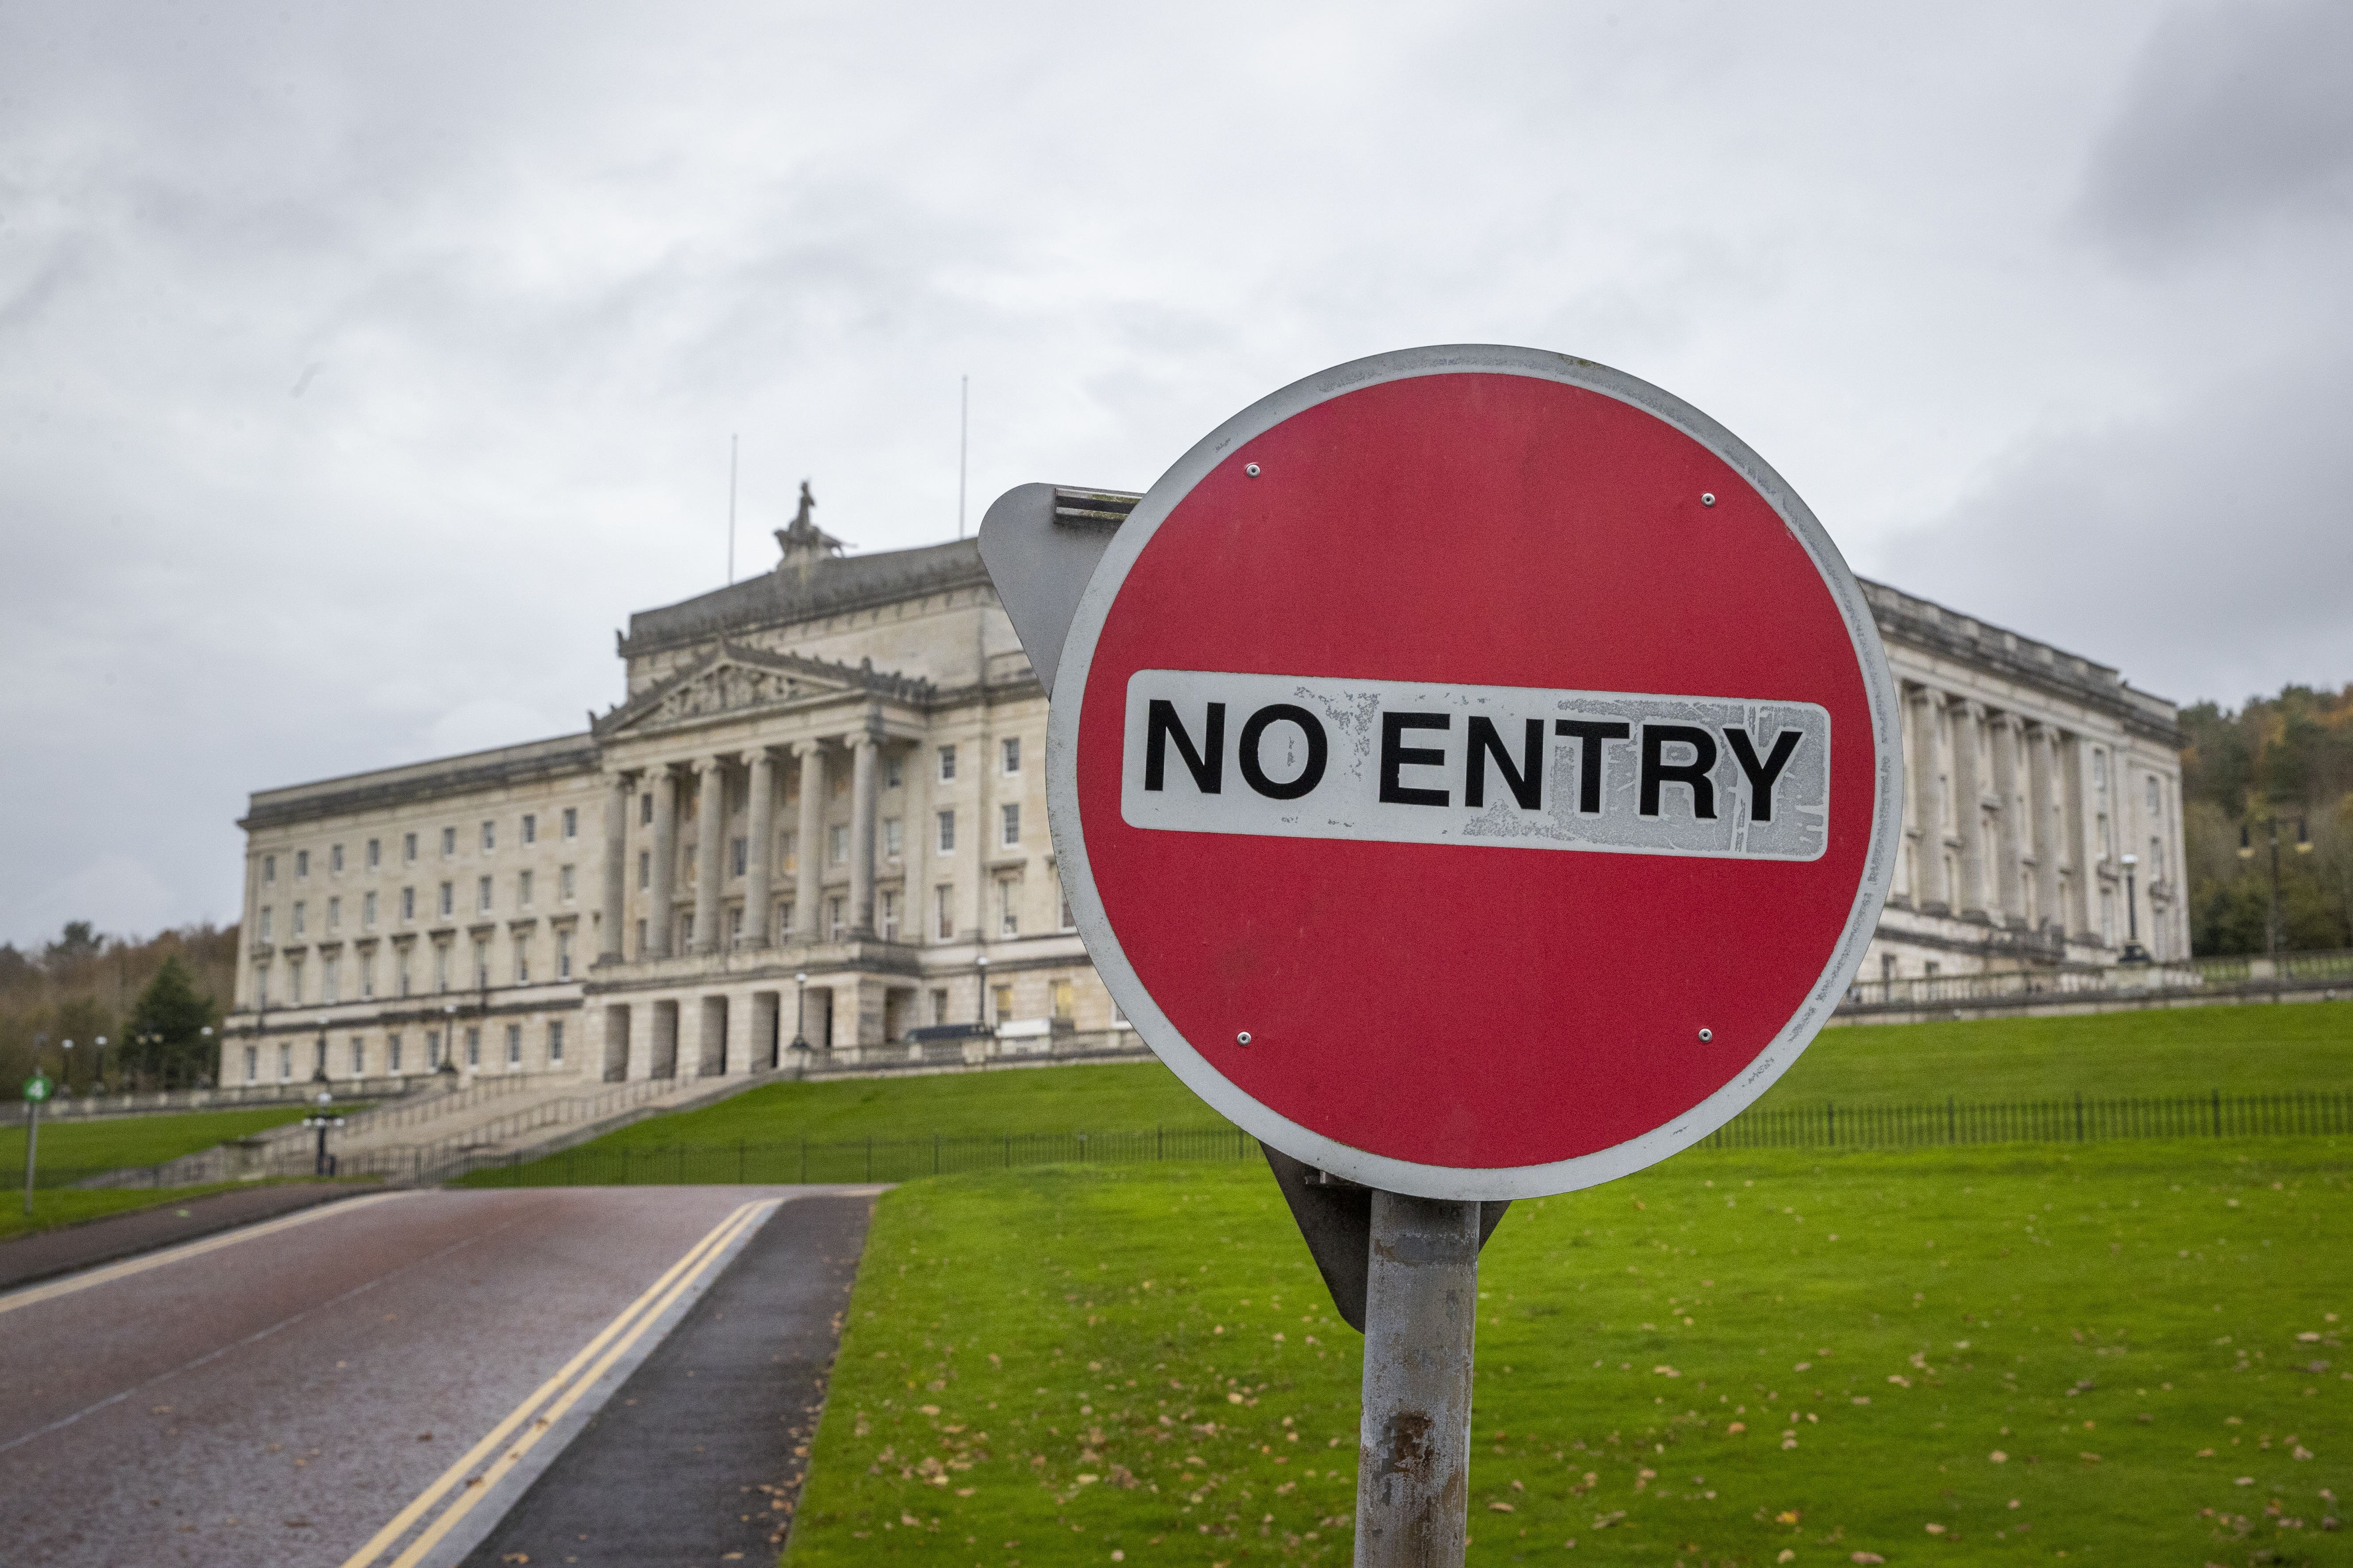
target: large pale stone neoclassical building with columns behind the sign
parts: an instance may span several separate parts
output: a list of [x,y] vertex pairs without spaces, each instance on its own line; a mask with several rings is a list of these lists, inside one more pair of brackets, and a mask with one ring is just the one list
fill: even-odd
[[[1045,830],[1045,691],[972,541],[631,616],[579,736],[252,797],[221,1079],[628,1079],[1125,1037]],[[1906,849],[1864,980],[2188,952],[2174,708],[1868,585]],[[2129,860],[2127,860],[2129,858]]]

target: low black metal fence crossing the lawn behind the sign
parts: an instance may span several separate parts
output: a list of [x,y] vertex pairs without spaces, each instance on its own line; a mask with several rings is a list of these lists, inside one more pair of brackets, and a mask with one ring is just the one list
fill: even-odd
[[[1908,1150],[1929,1145],[2118,1143],[2144,1138],[2278,1138],[2353,1133],[2353,1093],[2179,1095],[1922,1105],[1791,1105],[1751,1110],[1708,1135],[1708,1150]],[[624,1187],[725,1182],[904,1182],[958,1171],[1047,1164],[1195,1164],[1257,1159],[1233,1126],[1144,1133],[1007,1133],[995,1138],[864,1138],[581,1145],[529,1159],[485,1154],[449,1175],[471,1187]]]

